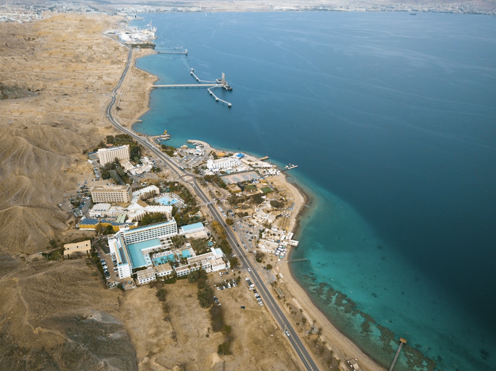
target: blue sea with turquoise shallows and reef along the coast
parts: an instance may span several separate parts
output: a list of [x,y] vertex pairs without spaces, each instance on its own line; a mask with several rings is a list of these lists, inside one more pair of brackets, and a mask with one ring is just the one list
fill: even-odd
[[[152,13],[157,84],[134,130],[269,156],[310,196],[290,263],[385,368],[496,370],[496,18]],[[318,326],[318,323],[316,324]],[[330,339],[332,341],[332,339]]]

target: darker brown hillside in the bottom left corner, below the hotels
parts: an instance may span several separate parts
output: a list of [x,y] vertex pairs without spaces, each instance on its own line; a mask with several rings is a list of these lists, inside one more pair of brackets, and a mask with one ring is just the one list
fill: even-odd
[[104,290],[82,259],[0,255],[1,370],[137,370],[119,318],[119,290]]

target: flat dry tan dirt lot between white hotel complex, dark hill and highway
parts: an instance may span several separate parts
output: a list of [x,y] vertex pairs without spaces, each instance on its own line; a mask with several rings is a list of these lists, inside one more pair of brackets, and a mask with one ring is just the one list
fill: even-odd
[[[212,273],[209,280],[213,284],[220,277]],[[124,296],[121,314],[136,347],[139,370],[300,370],[284,333],[244,282],[214,290],[232,327],[232,355],[227,356],[217,355],[225,336],[212,331],[208,310],[198,304],[196,284],[180,280],[165,288],[165,311],[156,288],[142,286]]]

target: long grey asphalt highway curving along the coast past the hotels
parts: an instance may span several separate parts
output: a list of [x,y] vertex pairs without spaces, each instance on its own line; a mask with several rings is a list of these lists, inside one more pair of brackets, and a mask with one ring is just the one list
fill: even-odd
[[[116,103],[117,90],[121,87],[124,81],[125,75],[129,70],[129,67],[131,66],[131,60],[132,60],[132,49],[129,48],[129,53],[127,55],[127,62],[124,67],[123,74],[117,86],[114,89],[112,89],[111,102],[107,106],[107,110],[106,110],[107,118],[115,128],[130,135],[132,138],[136,140],[136,142],[138,142],[143,147],[147,148],[150,152],[152,152],[154,155],[156,155],[158,159],[164,161],[164,163],[171,168],[171,171],[177,173],[181,178],[188,176],[187,177],[188,183],[191,184],[191,186],[193,187],[196,196],[201,200],[202,203],[209,203],[211,200],[205,195],[201,187],[198,186],[194,175],[188,174],[185,171],[183,171],[177,163],[175,163],[169,156],[164,154],[162,151],[160,151],[160,149],[158,149],[156,146],[150,143],[146,137],[138,135],[134,131],[122,126],[112,114],[113,107]],[[225,226],[224,219],[221,213],[216,209],[216,207],[213,204],[207,204],[206,207],[210,211],[212,217]],[[234,251],[238,254],[241,262],[251,270],[248,271],[247,273],[248,275],[251,276],[251,281],[256,285],[260,297],[264,301],[264,304],[270,310],[271,314],[274,316],[277,323],[279,323],[282,331],[286,331],[286,330],[289,331],[290,333],[290,336],[288,336],[289,342],[295,349],[295,352],[297,353],[300,360],[303,362],[303,365],[307,370],[317,371],[318,367],[315,364],[312,356],[310,355],[310,352],[303,344],[302,339],[297,335],[297,332],[291,325],[291,322],[288,320],[284,312],[281,310],[279,304],[274,300],[271,291],[265,285],[264,281],[262,280],[257,270],[255,269],[255,266],[248,259],[248,256],[245,254],[245,251],[241,247],[237,246],[237,240],[236,240],[236,236],[234,235],[234,232],[230,228],[226,228],[226,233],[227,233],[228,242],[231,244]]]

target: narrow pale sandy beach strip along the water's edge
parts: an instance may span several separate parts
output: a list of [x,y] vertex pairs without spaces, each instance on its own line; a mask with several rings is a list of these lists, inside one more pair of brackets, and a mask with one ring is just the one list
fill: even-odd
[[[138,67],[135,66],[136,59],[142,56],[145,55],[134,57],[133,68],[136,68],[139,71],[144,71],[151,75],[151,73],[149,73],[148,71],[139,69]],[[155,81],[158,80],[157,76],[155,75],[152,76],[155,79]],[[133,129],[133,125],[134,123],[138,122],[139,117],[141,117],[146,111],[149,110],[150,92],[152,91],[152,89],[148,89],[148,86],[145,86],[145,89],[147,91],[147,96],[148,96],[148,99],[146,101],[147,107],[143,108],[143,110],[141,110],[139,114],[136,114],[134,120],[128,126],[131,130],[133,130],[139,135],[145,135],[145,134],[135,131]],[[210,148],[213,149],[213,147],[210,146],[208,142],[205,142],[203,140],[195,140],[195,141],[205,143]],[[306,192],[305,189],[296,181],[295,182],[289,181],[288,180],[289,177],[290,176],[287,175],[279,175],[277,177],[269,177],[270,179],[269,181],[272,181],[273,183],[279,183],[281,186],[288,188],[289,193],[291,193],[291,195],[293,196],[295,202],[295,208],[297,210],[295,210],[296,213],[291,218],[290,230],[295,234],[295,236],[297,236],[298,234],[303,232],[301,229],[302,228],[301,219],[303,216],[311,212],[311,206],[313,205],[315,200],[312,197],[310,197],[308,192]],[[293,255],[293,252],[294,252],[294,248],[292,248],[289,254],[287,255],[288,260]],[[292,296],[291,300],[293,300],[295,303],[298,303],[297,305],[301,306],[303,312],[306,313],[307,316],[311,317],[312,319],[316,319],[317,320],[316,323],[319,323],[320,326],[322,326],[322,337],[325,339],[327,346],[333,350],[334,354],[336,355],[336,358],[342,360],[344,364],[346,364],[347,360],[357,359],[358,364],[364,370],[369,370],[369,371],[386,370],[384,367],[380,366],[377,362],[375,362],[358,345],[356,345],[347,335],[342,333],[334,326],[331,320],[327,318],[325,313],[316,305],[314,300],[310,297],[310,294],[300,284],[298,279],[295,278],[295,274],[293,270],[289,267],[289,263],[287,264],[276,263],[275,268],[278,269],[278,271],[283,274],[284,276],[283,283],[284,285],[286,285],[288,291],[291,293]],[[282,305],[281,308],[284,308],[284,310],[286,310],[286,308]]]

